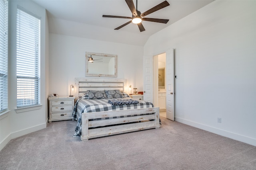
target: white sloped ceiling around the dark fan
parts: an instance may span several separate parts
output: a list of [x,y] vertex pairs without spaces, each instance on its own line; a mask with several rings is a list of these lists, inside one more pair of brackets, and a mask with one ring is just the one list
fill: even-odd
[[[103,18],[102,15],[131,17],[125,0],[33,0],[46,8],[50,33],[85,37],[143,46],[150,35],[206,6],[213,0],[167,0],[170,6],[162,8],[148,18],[169,19],[168,23],[142,21],[146,31],[130,23],[119,30],[116,27],[130,19]],[[138,10],[143,13],[164,0],[138,0]],[[136,1],[134,0],[136,7]]]

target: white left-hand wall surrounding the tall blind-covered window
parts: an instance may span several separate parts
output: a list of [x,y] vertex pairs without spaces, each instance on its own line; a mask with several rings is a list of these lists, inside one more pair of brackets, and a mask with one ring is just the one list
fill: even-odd
[[[8,10],[8,112],[0,116],[0,149],[11,139],[46,127],[48,121],[48,23],[46,10],[27,0],[9,0]],[[17,5],[41,17],[41,105],[16,113],[16,14]],[[33,107],[34,109],[35,107]]]

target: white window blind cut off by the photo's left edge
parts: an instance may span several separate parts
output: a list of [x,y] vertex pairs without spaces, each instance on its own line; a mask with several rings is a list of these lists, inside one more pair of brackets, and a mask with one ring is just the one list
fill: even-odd
[[8,1],[0,0],[0,112],[8,107]]

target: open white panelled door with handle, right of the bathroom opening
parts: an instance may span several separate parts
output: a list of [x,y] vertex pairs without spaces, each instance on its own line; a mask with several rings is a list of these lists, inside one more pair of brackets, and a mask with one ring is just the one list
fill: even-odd
[[174,121],[174,49],[166,52],[166,118]]

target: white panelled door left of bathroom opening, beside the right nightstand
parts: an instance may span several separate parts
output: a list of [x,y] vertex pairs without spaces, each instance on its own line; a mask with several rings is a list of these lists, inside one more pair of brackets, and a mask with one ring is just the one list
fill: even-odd
[[143,100],[153,103],[153,56],[143,57]]

